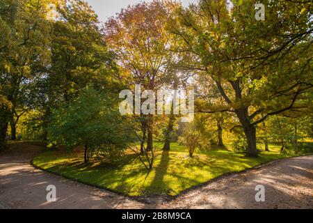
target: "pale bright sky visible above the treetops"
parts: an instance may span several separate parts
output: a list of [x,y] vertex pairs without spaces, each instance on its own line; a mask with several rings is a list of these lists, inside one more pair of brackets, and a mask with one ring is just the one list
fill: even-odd
[[[121,8],[134,5],[141,2],[140,0],[86,0],[93,7],[95,13],[99,16],[99,20],[105,22],[109,17],[120,13]],[[151,1],[151,0],[145,0]],[[198,0],[182,0],[184,6],[189,3],[196,3]]]

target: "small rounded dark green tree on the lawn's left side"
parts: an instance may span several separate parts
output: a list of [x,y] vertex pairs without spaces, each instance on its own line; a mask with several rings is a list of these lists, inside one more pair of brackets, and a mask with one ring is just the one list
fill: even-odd
[[[49,140],[72,149],[84,147],[84,163],[97,149],[124,150],[133,134],[120,116],[114,95],[103,95],[91,87],[83,89],[69,106],[54,110],[49,125]],[[120,153],[119,153],[120,154]]]

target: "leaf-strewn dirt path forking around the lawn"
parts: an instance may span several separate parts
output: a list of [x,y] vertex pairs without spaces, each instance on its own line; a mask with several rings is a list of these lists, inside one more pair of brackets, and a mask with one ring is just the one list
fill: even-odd
[[[313,208],[313,156],[281,160],[245,174],[233,174],[190,190],[172,201],[163,197],[136,201],[47,174],[29,162],[40,146],[13,146],[0,154],[1,208]],[[46,200],[55,185],[57,201]],[[264,185],[266,201],[255,201]]]

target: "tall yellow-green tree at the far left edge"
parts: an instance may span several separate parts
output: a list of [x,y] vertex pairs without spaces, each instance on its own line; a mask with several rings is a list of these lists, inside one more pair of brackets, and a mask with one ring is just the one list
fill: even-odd
[[49,61],[50,26],[46,13],[51,2],[4,0],[0,3],[0,149],[5,145],[8,123],[13,123],[13,116],[21,106],[22,89],[33,82],[36,68]]

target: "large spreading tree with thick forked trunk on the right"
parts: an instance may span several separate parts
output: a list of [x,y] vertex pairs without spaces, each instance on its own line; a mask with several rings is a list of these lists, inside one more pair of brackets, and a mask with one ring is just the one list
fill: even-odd
[[[255,20],[257,1],[200,1],[181,9],[172,32],[211,77],[257,157],[256,126],[269,116],[307,107],[312,93],[312,3],[261,1],[266,21]],[[279,27],[279,29],[278,29]],[[200,61],[200,63],[199,63]],[[216,107],[216,106],[215,106]],[[207,108],[210,110],[210,108]]]

